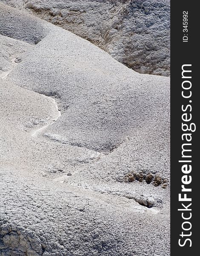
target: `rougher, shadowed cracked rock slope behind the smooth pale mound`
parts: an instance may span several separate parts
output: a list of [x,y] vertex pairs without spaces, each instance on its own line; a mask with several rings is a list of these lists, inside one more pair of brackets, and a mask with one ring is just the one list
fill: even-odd
[[1,0],[109,52],[139,73],[170,74],[169,0]]

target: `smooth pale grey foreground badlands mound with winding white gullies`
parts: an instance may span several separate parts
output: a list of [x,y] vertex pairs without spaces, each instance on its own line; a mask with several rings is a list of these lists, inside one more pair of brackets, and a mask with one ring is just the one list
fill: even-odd
[[169,78],[0,3],[0,255],[169,255]]

